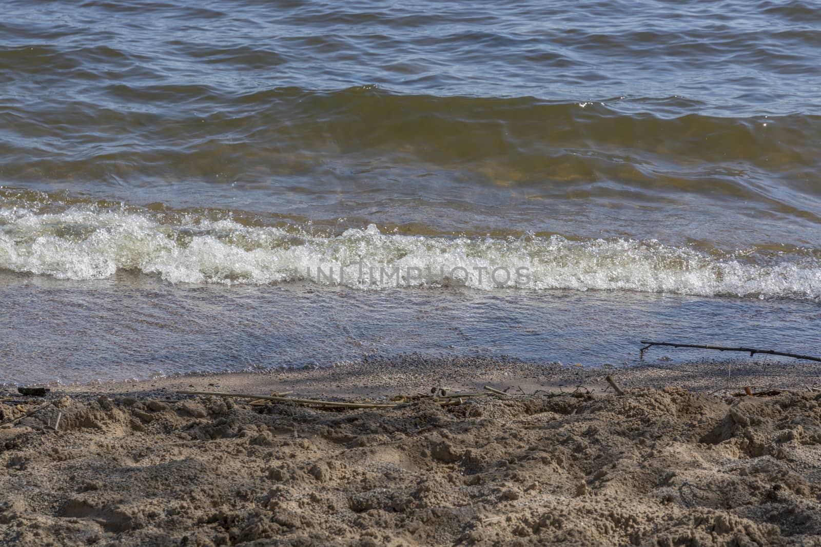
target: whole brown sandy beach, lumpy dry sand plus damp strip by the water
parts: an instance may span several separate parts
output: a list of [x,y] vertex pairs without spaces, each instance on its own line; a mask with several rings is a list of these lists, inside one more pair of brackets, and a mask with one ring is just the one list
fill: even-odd
[[[511,396],[324,410],[174,393],[376,400],[485,384]],[[793,391],[727,396],[745,385]],[[818,385],[800,362],[406,356],[55,390],[0,428],[0,541],[821,545]],[[9,396],[0,421],[43,400]]]

